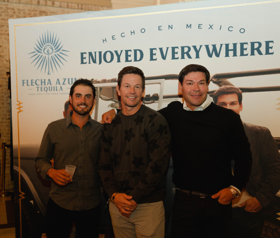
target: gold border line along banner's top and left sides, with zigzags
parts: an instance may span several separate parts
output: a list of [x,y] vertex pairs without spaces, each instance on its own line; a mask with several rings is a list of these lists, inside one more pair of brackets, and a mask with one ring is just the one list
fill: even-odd
[[[233,5],[225,5],[225,6],[216,6],[216,7],[200,7],[200,8],[191,8],[191,9],[179,9],[179,10],[170,10],[163,12],[148,12],[148,13],[140,13],[140,14],[131,14],[131,15],[120,15],[120,16],[108,16],[108,17],[93,17],[93,18],[83,18],[83,19],[75,19],[75,20],[66,20],[66,21],[52,21],[52,22],[43,22],[43,23],[31,23],[31,24],[17,24],[14,25],[14,37],[15,37],[15,61],[16,61],[16,26],[31,26],[31,25],[43,25],[43,24],[54,24],[54,23],[64,23],[64,22],[73,22],[73,21],[87,21],[87,20],[97,20],[97,19],[109,19],[109,18],[122,18],[122,17],[133,17],[133,16],[145,16],[145,15],[154,15],[154,14],[163,14],[163,13],[171,13],[171,12],[186,12],[186,11],[197,11],[197,10],[209,10],[209,9],[217,9],[217,8],[227,8],[227,7],[242,7],[242,6],[250,6],[250,5],[259,5],[259,4],[268,4],[268,3],[276,3],[280,2],[280,0],[274,1],[264,1],[264,2],[253,2],[253,3],[244,3],[244,4],[233,4]],[[16,63],[16,101],[18,104],[18,112],[17,112],[17,123],[18,123],[18,183],[19,183],[19,216],[20,216],[20,237],[22,238],[22,225],[21,225],[21,200],[25,197],[23,196],[25,193],[21,192],[21,182],[20,182],[20,144],[19,144],[19,116],[18,114],[22,112],[21,110],[22,102],[18,101],[18,74],[17,74],[17,63]]]

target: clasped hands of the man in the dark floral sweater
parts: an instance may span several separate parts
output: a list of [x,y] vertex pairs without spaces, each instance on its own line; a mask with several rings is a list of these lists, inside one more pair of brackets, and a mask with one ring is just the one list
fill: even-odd
[[138,206],[137,203],[134,200],[132,200],[132,196],[126,195],[125,193],[116,194],[114,198],[114,203],[119,209],[120,214],[127,218],[130,217],[130,214]]

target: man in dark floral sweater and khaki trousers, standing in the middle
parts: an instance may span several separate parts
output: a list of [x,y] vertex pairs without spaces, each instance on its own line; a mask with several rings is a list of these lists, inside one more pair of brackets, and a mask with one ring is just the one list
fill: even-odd
[[103,127],[99,173],[110,197],[116,238],[164,237],[163,197],[171,134],[160,113],[141,104],[145,76],[136,67],[118,74],[122,110]]

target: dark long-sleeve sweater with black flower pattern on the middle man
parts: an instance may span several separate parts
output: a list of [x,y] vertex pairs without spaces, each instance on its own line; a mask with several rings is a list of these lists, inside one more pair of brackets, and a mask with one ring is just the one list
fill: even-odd
[[121,192],[137,203],[162,201],[171,152],[165,118],[145,105],[130,116],[120,111],[100,138],[99,174],[109,197]]

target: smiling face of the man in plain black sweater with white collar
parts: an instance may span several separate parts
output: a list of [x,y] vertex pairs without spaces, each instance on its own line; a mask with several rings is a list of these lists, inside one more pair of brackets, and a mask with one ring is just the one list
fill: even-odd
[[182,93],[188,108],[196,109],[206,100],[209,91],[205,73],[188,73],[182,84],[179,82],[178,91]]

